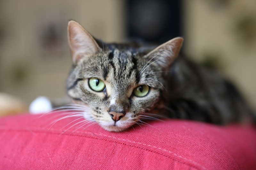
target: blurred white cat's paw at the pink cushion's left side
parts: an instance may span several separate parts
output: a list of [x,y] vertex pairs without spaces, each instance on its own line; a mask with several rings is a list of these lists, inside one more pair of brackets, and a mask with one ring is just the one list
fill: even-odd
[[44,96],[37,97],[29,106],[31,114],[45,113],[50,110],[52,110],[52,102]]

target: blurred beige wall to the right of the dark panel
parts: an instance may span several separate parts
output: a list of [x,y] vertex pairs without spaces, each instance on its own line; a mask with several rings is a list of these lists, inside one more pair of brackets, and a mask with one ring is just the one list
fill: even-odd
[[249,15],[256,21],[256,1],[233,0],[223,6],[210,2],[184,0],[184,51],[198,61],[204,60],[205,52],[219,53],[222,72],[256,105],[256,37],[245,41],[235,31],[240,17]]

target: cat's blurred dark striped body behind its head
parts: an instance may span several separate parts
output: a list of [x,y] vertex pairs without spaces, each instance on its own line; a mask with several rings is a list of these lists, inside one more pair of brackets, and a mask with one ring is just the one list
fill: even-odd
[[204,121],[216,124],[241,122],[252,112],[231,81],[217,70],[203,67],[185,55],[181,54],[173,63],[168,81],[169,106],[183,104],[192,114],[204,112],[208,116]]

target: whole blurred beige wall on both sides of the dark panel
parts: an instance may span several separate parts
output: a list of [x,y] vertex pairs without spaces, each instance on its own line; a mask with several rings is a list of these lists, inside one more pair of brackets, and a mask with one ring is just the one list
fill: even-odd
[[[256,41],[245,43],[234,32],[235,18],[242,14],[256,16],[256,1],[229,1],[216,7],[204,0],[183,0],[184,51],[204,60],[203,53],[221,54],[222,71],[237,82],[251,103],[256,104]],[[124,1],[121,0],[4,0],[0,4],[0,91],[30,103],[36,96],[52,98],[65,95],[65,80],[71,65],[66,25],[70,18],[80,22],[95,37],[121,41],[125,37]],[[61,53],[48,56],[39,42],[47,21],[63,25]],[[4,26],[3,26],[4,25]],[[25,70],[24,81],[14,80],[17,65]],[[19,71],[19,69],[18,69]]]

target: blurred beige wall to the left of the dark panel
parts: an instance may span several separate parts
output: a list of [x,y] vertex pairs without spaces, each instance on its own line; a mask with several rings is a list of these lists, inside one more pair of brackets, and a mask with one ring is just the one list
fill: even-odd
[[[0,91],[18,96],[27,103],[43,95],[65,96],[65,81],[71,67],[66,26],[75,19],[95,37],[105,41],[124,38],[123,1],[119,0],[24,0],[1,1],[4,42],[0,45]],[[61,52],[46,56],[39,41],[44,23],[63,25]],[[13,70],[21,65],[26,75],[16,82]],[[19,69],[18,69],[19,71]]]

